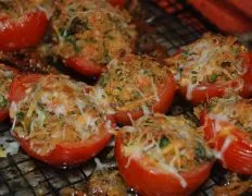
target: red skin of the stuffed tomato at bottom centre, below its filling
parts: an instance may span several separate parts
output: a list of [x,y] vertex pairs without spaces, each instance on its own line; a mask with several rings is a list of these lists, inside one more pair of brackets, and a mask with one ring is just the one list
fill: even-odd
[[119,173],[129,187],[134,187],[143,196],[190,195],[209,177],[213,166],[213,162],[207,162],[192,171],[182,173],[181,176],[187,182],[187,186],[182,187],[179,180],[171,173],[148,170],[139,163],[140,160],[131,159],[129,162],[129,158],[122,152],[122,136],[118,134],[115,140],[115,158]]

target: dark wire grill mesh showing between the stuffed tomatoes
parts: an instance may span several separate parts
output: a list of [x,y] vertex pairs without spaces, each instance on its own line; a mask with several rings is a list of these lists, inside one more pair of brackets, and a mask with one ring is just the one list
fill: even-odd
[[[196,40],[205,32],[217,32],[185,1],[167,2],[162,4],[165,7],[165,12],[154,0],[141,0],[142,9],[147,13],[146,22],[156,27],[155,40],[166,48],[168,54],[173,54],[177,48]],[[175,101],[171,113],[187,112],[191,109]],[[10,127],[8,121],[0,123],[0,136],[8,134]],[[113,147],[109,145],[97,157],[102,163],[115,167],[113,158],[108,156],[112,150]],[[76,168],[53,168],[28,157],[20,149],[17,155],[0,158],[0,195],[60,195],[61,189],[67,186],[86,187],[94,168],[93,160]],[[193,195],[212,195],[214,186],[227,182],[226,175],[227,171],[218,164],[214,166],[207,182]]]

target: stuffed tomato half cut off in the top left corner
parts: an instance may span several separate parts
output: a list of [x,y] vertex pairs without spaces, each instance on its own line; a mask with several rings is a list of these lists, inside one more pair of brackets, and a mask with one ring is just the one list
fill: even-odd
[[41,40],[48,19],[38,5],[34,0],[0,2],[0,50],[21,50]]

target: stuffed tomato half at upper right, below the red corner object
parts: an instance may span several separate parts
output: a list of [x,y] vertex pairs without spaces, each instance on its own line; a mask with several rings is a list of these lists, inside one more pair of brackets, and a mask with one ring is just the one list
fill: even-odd
[[232,36],[205,34],[166,62],[193,105],[226,94],[252,96],[252,56]]

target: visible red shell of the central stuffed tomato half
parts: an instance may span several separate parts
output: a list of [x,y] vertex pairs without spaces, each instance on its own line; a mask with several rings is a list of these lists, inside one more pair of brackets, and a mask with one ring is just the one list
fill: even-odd
[[[173,99],[174,99],[174,95],[176,91],[176,84],[175,84],[173,76],[168,75],[166,77],[164,88],[158,87],[158,89],[159,89],[160,101],[156,102],[154,106],[152,106],[152,109],[154,112],[165,113],[168,110],[169,106],[172,105]],[[142,112],[142,110],[117,111],[114,114],[114,119],[119,124],[131,124],[129,115],[131,117],[133,120],[137,120],[143,115],[143,112]]]

